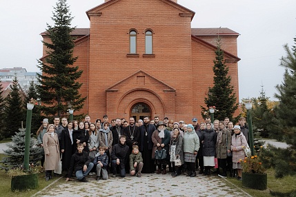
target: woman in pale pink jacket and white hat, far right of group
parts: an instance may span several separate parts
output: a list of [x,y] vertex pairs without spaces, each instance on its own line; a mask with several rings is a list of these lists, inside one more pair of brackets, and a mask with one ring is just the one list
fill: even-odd
[[245,158],[244,147],[248,146],[246,137],[241,132],[241,127],[233,127],[235,134],[231,139],[231,150],[233,151],[233,169],[237,169],[237,180],[241,180],[242,166],[241,161]]

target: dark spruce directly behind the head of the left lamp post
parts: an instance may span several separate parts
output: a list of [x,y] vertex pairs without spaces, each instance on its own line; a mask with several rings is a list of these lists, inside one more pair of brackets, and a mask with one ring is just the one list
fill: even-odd
[[[39,96],[37,94],[36,85],[34,81],[30,82],[30,87],[26,94],[25,102],[25,109],[27,109],[27,103],[30,103],[30,99],[33,98],[35,101],[39,100]],[[26,113],[25,113],[26,114]],[[43,116],[40,112],[40,105],[34,105],[34,109],[32,110],[32,122],[31,122],[31,133],[36,134],[37,130],[39,129],[40,125],[42,124]]]

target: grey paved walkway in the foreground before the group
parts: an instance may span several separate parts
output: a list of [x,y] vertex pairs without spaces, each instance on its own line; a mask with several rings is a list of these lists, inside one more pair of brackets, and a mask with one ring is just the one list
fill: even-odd
[[77,180],[66,182],[65,178],[43,189],[36,196],[250,196],[240,189],[226,185],[218,176],[181,175],[172,178],[170,174],[143,174],[141,178],[108,178],[95,180],[88,176],[89,183]]

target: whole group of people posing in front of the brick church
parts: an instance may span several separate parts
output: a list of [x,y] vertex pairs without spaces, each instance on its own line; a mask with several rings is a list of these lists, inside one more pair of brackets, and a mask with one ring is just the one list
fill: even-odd
[[226,178],[229,169],[230,176],[236,174],[241,180],[239,160],[244,160],[243,148],[248,146],[244,117],[235,126],[229,118],[212,124],[209,117],[200,124],[193,118],[188,125],[167,117],[159,121],[159,116],[154,120],[144,116],[137,122],[130,117],[128,124],[124,118],[109,123],[107,115],[95,123],[88,115],[84,119],[68,121],[63,117],[61,124],[59,117],[54,118],[53,124],[48,123],[48,118],[43,119],[37,139],[44,150],[41,166],[46,180],[52,178],[60,160],[66,180],[71,180],[74,173],[82,182],[88,181],[88,174],[95,174],[96,180],[106,180],[110,173],[113,178],[117,174],[125,177],[126,173],[141,177],[142,173],[166,174],[167,167],[172,177],[182,172],[194,177],[196,169],[199,174],[210,175],[215,160],[219,176]]

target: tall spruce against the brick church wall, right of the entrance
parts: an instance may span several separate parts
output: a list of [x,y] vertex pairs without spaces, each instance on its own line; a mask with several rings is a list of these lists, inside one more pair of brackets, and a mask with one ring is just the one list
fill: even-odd
[[214,86],[208,87],[208,97],[204,98],[206,107],[201,106],[201,116],[208,114],[208,108],[215,106],[215,119],[224,120],[225,117],[233,120],[233,114],[237,110],[237,96],[230,85],[231,76],[228,76],[228,66],[224,64],[224,53],[221,50],[220,39],[217,39],[217,50],[215,51],[213,66]]

